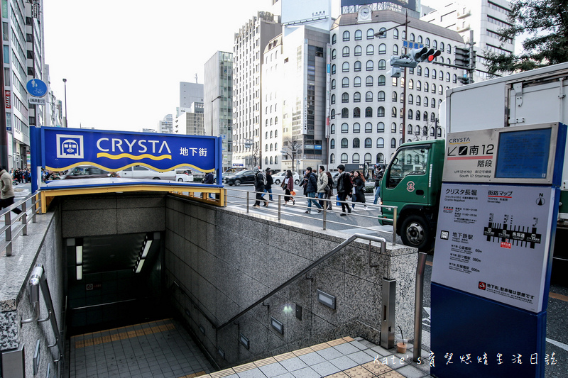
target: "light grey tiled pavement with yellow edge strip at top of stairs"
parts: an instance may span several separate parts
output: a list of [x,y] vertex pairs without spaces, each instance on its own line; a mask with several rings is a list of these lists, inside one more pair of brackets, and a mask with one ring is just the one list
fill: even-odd
[[[341,338],[246,365],[203,375],[203,378],[422,378],[430,377],[429,363],[411,362],[412,345],[404,355],[393,354],[358,338]],[[422,356],[428,353],[422,350]],[[384,363],[386,362],[386,363]],[[189,378],[189,377],[187,377]]]

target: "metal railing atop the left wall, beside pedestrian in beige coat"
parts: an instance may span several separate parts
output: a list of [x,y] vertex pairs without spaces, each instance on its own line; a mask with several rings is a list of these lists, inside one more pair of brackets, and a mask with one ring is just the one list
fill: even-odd
[[[6,250],[6,256],[12,255],[12,242],[18,235],[28,235],[28,223],[35,223],[35,215],[41,210],[40,192],[27,196],[25,199],[17,201],[13,205],[0,211],[0,217],[4,216],[4,226],[0,228],[0,233],[4,233],[4,240],[0,240],[0,252]],[[28,201],[31,205],[28,207]],[[12,219],[12,212],[21,206],[21,213]],[[31,218],[31,219],[30,219]]]

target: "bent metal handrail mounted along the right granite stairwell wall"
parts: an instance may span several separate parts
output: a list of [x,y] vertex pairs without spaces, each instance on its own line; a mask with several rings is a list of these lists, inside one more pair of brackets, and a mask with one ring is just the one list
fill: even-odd
[[372,235],[364,235],[361,233],[355,233],[354,235],[351,235],[349,238],[347,238],[346,240],[344,240],[342,243],[340,243],[339,245],[337,245],[337,247],[335,247],[334,249],[330,250],[329,252],[327,252],[325,255],[323,255],[322,257],[320,257],[319,259],[315,260],[315,262],[312,262],[312,264],[308,265],[307,267],[305,267],[304,269],[302,269],[302,271],[298,272],[297,274],[295,274],[294,277],[291,277],[290,279],[288,279],[286,282],[284,282],[283,284],[280,284],[280,286],[276,287],[275,289],[273,289],[272,291],[270,291],[268,294],[266,294],[265,296],[263,296],[261,299],[258,299],[258,301],[254,302],[253,304],[251,304],[249,307],[245,308],[243,311],[237,313],[235,316],[233,316],[232,318],[230,318],[228,321],[226,321],[225,323],[223,323],[222,325],[218,326],[211,318],[209,318],[209,316],[207,316],[204,311],[202,311],[202,309],[195,303],[195,301],[193,301],[193,299],[190,298],[189,295],[187,295],[187,293],[185,292],[185,290],[183,290],[180,285],[178,284],[178,282],[173,282],[170,285],[171,287],[178,287],[178,289],[180,289],[180,291],[182,291],[182,294],[184,294],[188,299],[190,299],[192,305],[197,308],[198,311],[200,311],[200,313],[202,313],[202,315],[204,316],[204,318],[207,319],[207,321],[209,321],[209,323],[211,324],[211,326],[216,329],[216,330],[221,330],[222,328],[225,328],[226,326],[229,326],[229,324],[233,323],[234,321],[236,321],[236,319],[240,318],[241,316],[243,316],[245,313],[249,312],[252,308],[258,306],[258,304],[263,303],[264,301],[266,301],[266,299],[270,298],[271,296],[273,296],[274,294],[278,293],[278,291],[284,289],[285,287],[288,287],[288,285],[292,284],[293,282],[295,282],[298,278],[302,277],[304,274],[307,274],[307,272],[310,272],[310,270],[314,269],[315,267],[317,267],[318,265],[322,264],[322,262],[329,260],[330,257],[332,257],[333,255],[335,255],[337,252],[339,252],[340,250],[342,250],[343,248],[345,248],[347,245],[349,245],[349,243],[353,242],[356,239],[364,239],[364,240],[368,240],[369,244],[368,244],[368,265],[370,267],[377,267],[378,265],[372,264],[371,263],[371,241],[377,242],[377,243],[381,243],[381,255],[385,255],[386,253],[386,240],[385,238],[380,238],[378,236],[372,236]]

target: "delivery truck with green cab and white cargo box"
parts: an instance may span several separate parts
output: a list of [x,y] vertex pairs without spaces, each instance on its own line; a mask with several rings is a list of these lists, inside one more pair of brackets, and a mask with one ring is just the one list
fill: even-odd
[[[547,122],[568,124],[567,94],[568,63],[447,89],[439,109],[440,126],[448,134]],[[422,251],[430,250],[435,242],[445,145],[443,139],[400,145],[381,182],[381,204],[397,206],[396,233],[405,245]],[[557,239],[568,241],[567,158],[568,152],[564,158]],[[382,216],[387,220],[379,223],[393,224],[393,210],[383,208]],[[568,252],[555,251],[556,260],[568,262]]]

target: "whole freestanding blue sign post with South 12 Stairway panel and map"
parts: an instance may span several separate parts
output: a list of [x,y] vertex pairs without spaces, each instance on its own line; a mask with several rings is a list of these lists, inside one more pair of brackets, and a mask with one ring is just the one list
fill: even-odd
[[431,374],[544,377],[562,123],[450,133],[432,268]]

